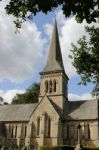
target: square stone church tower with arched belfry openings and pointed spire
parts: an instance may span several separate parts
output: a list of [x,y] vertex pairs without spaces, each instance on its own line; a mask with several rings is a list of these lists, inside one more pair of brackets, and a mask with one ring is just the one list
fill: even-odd
[[46,94],[60,109],[63,109],[64,102],[68,99],[68,77],[63,66],[56,20],[47,63],[40,75],[39,100]]

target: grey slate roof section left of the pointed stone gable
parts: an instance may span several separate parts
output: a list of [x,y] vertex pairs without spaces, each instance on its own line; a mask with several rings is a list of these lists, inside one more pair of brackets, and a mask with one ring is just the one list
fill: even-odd
[[37,103],[34,104],[18,104],[18,105],[1,105],[0,121],[29,121],[32,112]]

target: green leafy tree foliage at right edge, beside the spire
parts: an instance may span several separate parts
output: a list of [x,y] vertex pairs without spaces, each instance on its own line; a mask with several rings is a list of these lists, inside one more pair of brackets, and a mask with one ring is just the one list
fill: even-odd
[[89,37],[83,36],[78,40],[78,46],[72,43],[73,66],[81,76],[80,84],[92,82],[94,93],[99,93],[99,28],[85,27]]

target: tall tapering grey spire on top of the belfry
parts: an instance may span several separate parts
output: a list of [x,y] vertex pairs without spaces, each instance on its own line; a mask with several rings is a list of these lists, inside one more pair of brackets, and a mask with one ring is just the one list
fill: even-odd
[[53,27],[47,64],[42,73],[52,71],[64,71],[56,20]]

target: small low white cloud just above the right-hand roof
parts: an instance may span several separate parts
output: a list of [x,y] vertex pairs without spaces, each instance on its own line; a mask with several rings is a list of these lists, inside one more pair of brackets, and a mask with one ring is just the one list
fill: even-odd
[[70,101],[81,101],[81,100],[92,100],[95,99],[95,97],[92,97],[90,93],[84,93],[82,95],[74,94],[74,93],[69,93],[68,94],[68,99]]

